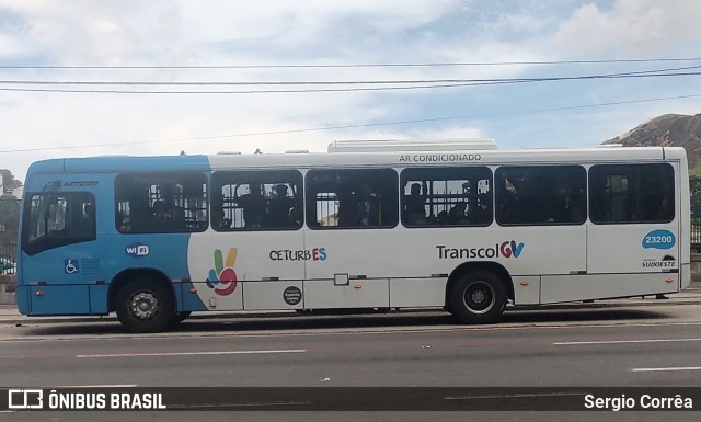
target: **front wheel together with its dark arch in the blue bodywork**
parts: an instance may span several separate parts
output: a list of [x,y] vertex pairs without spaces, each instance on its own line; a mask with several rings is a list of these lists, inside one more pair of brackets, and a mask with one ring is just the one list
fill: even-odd
[[153,269],[131,269],[110,284],[110,310],[130,332],[163,331],[176,317],[175,292],[170,280]]

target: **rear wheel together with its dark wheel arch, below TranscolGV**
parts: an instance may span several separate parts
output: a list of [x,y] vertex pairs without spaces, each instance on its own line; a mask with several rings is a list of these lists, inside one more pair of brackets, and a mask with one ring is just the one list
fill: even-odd
[[495,262],[463,263],[446,284],[445,308],[461,322],[495,322],[508,300],[514,300],[512,276]]

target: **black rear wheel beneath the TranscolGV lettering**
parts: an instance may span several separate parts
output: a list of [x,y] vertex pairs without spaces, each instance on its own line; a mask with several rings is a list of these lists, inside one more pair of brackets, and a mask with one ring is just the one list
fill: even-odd
[[450,312],[462,323],[494,323],[504,308],[508,294],[504,281],[489,271],[461,275],[448,292]]

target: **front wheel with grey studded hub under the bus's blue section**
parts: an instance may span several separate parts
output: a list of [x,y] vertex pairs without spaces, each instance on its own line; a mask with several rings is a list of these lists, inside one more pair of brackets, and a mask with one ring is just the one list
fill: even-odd
[[174,320],[172,292],[152,280],[135,280],[117,294],[117,318],[129,332],[159,332]]

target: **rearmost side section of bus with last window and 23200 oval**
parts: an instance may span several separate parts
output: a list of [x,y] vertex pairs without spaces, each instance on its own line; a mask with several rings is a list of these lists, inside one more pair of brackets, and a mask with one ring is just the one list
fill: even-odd
[[[678,289],[676,163],[596,164],[589,169],[588,274],[597,297]],[[633,281],[632,275],[635,274]]]

